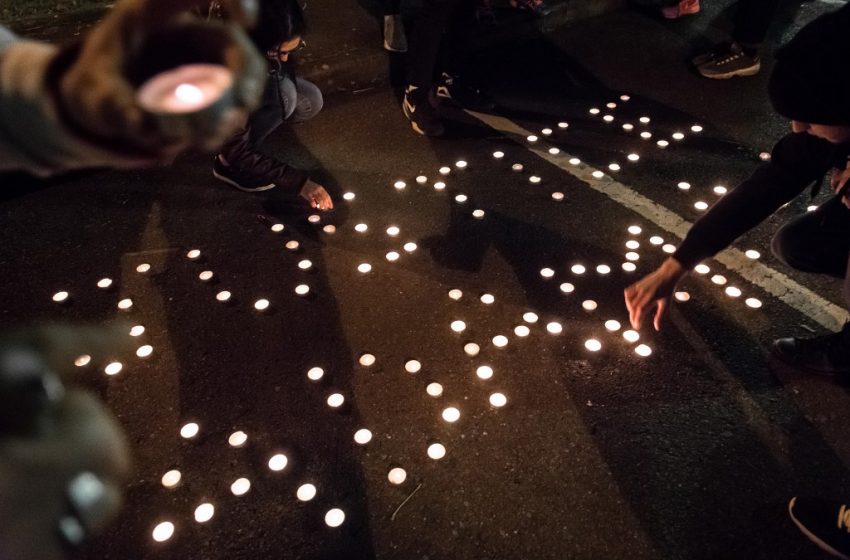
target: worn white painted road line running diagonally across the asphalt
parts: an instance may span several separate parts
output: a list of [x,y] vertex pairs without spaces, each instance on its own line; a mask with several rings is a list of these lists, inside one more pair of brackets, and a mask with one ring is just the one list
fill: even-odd
[[[467,111],[467,113],[494,130],[506,135],[518,136],[520,145],[525,145],[530,152],[587,183],[590,188],[640,214],[679,239],[684,239],[693,225],[672,210],[615,181],[607,174],[602,179],[595,179],[591,175],[595,171],[594,168],[584,163],[571,165],[568,160],[573,156],[566,152],[552,155],[548,152],[549,146],[527,145],[525,138],[532,133],[509,119],[474,111]],[[722,251],[714,259],[826,329],[840,330],[850,319],[850,315],[844,308],[827,301],[778,270],[748,259],[742,251],[734,247]]]

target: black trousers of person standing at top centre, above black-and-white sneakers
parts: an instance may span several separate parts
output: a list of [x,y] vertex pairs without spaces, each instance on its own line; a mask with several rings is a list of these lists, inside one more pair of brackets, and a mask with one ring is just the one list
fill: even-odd
[[408,83],[422,89],[434,85],[440,71],[456,75],[462,69],[475,25],[477,0],[424,0],[413,20],[407,54]]

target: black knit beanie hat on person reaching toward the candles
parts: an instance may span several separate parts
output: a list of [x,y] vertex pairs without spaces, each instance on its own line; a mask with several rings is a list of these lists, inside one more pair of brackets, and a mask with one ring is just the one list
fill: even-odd
[[850,125],[850,4],[814,20],[776,54],[768,85],[780,115]]

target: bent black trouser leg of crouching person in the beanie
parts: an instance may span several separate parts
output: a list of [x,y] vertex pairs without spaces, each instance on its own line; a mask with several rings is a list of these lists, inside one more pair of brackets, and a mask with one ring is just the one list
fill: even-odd
[[791,268],[843,278],[850,308],[850,209],[837,196],[779,228],[771,248]]

